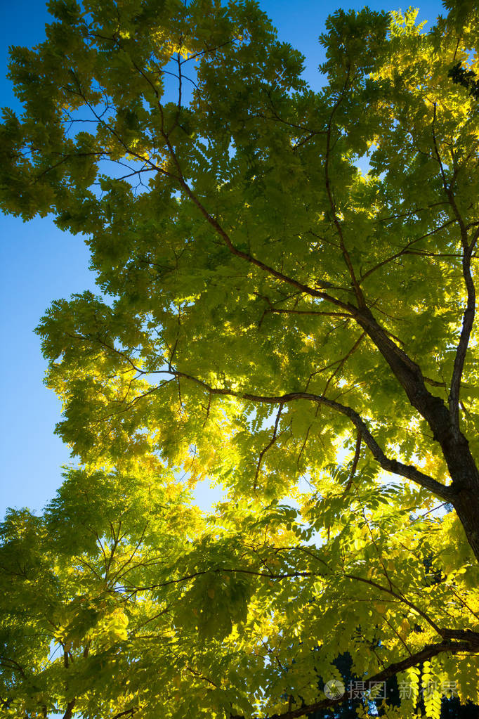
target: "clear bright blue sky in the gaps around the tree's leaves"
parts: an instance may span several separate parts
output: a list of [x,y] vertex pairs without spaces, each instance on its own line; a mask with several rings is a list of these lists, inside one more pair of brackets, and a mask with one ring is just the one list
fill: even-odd
[[[317,66],[323,60],[317,37],[324,30],[327,15],[338,7],[361,9],[364,4],[261,1],[280,39],[305,55],[304,77],[316,89],[320,86]],[[394,10],[406,9],[408,4],[373,0],[368,6]],[[432,24],[442,12],[442,3],[427,0],[419,8],[419,19],[428,19]],[[42,0],[0,0],[1,106],[19,109],[5,78],[9,45],[32,46],[40,42],[48,18]],[[80,237],[60,232],[48,218],[22,223],[0,214],[0,237],[1,519],[9,506],[41,510],[60,485],[60,465],[72,461],[68,447],[53,434],[60,405],[42,385],[45,361],[33,330],[52,300],[85,289],[94,291],[95,278],[88,270],[88,252]],[[197,493],[203,506],[208,506],[214,497],[215,493],[205,486]]]

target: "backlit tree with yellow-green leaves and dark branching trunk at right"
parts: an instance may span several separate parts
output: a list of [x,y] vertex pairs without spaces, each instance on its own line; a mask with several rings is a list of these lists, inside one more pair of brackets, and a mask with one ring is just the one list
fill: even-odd
[[[342,700],[318,677],[345,651],[409,682],[391,719],[421,671],[429,716],[444,682],[477,703],[475,4],[428,33],[335,12],[317,93],[252,1],[50,12],[11,52],[1,201],[85,234],[103,296],[38,329],[83,469],[53,505],[65,562],[53,509],[6,521],[4,713],[294,719]],[[228,498],[194,526],[181,505],[170,541],[144,487],[180,470]],[[144,530],[119,540],[131,492]]]

